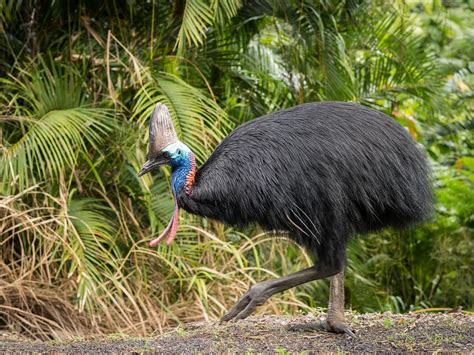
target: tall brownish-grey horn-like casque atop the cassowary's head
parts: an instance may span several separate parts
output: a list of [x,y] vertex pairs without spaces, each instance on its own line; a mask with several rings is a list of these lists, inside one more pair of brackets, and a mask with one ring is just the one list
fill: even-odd
[[150,144],[148,152],[156,154],[163,148],[178,141],[168,107],[156,104],[150,119]]

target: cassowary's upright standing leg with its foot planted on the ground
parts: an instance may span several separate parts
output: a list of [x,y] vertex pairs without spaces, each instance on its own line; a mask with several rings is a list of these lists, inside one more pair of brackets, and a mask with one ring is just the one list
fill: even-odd
[[331,278],[327,319],[317,323],[293,325],[290,330],[326,330],[338,334],[347,334],[352,337],[355,336],[344,320],[344,271]]

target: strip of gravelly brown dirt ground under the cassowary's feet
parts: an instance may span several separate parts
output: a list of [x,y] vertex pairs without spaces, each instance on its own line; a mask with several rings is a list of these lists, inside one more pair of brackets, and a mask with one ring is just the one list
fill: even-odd
[[3,334],[0,352],[35,353],[317,353],[458,352],[474,353],[474,316],[448,314],[348,314],[356,337],[325,332],[293,332],[287,327],[314,322],[312,316],[255,316],[220,325],[189,323],[149,338],[120,334],[73,341],[20,341]]

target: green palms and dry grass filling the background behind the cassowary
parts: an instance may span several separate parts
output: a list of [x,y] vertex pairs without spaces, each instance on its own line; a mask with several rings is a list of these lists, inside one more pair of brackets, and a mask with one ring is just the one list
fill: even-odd
[[[436,216],[354,240],[347,306],[472,307],[472,1],[0,0],[0,327],[150,334],[217,318],[250,284],[311,264],[260,230],[172,213],[137,178],[157,101],[205,161],[233,128],[303,102],[392,115],[430,157]],[[264,311],[325,307],[327,281]]]

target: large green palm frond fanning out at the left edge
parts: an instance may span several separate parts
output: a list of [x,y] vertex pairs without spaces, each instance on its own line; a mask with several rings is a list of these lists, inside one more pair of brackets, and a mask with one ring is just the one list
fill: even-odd
[[73,70],[40,62],[31,74],[3,80],[12,112],[2,116],[4,188],[47,181],[71,169],[80,152],[99,150],[114,127],[113,112],[87,105],[79,79]]

